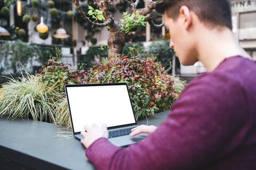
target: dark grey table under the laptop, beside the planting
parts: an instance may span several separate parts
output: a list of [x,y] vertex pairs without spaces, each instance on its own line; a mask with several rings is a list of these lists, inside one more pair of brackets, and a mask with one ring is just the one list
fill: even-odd
[[[149,116],[148,125],[159,125],[167,113]],[[146,118],[138,124],[147,124]],[[81,142],[59,132],[51,123],[0,118],[0,169],[95,169]]]

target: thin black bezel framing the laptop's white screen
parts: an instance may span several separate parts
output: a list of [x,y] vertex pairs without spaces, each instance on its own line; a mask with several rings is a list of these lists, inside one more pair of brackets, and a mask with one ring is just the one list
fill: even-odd
[[108,127],[108,129],[116,129],[116,128],[123,128],[123,127],[126,127],[126,126],[137,125],[137,120],[136,120],[136,117],[135,117],[135,112],[134,112],[134,109],[133,109],[133,106],[132,106],[132,100],[131,100],[131,96],[130,96],[130,92],[129,92],[127,84],[126,83],[91,83],[91,84],[66,84],[65,85],[65,91],[66,91],[67,102],[68,102],[68,109],[69,109],[69,116],[70,116],[71,127],[72,127],[72,131],[73,131],[74,135],[75,134],[80,134],[80,132],[75,132],[74,131],[73,120],[72,120],[72,115],[71,115],[71,109],[70,109],[70,106],[69,106],[69,98],[68,98],[68,90],[67,90],[67,88],[69,88],[69,87],[84,87],[84,86],[121,86],[121,85],[125,85],[126,86],[126,89],[127,89],[128,95],[129,95],[129,99],[130,99],[130,104],[131,104],[131,107],[132,107],[132,112],[133,112],[135,123],[118,125],[118,126],[111,126],[111,127]]

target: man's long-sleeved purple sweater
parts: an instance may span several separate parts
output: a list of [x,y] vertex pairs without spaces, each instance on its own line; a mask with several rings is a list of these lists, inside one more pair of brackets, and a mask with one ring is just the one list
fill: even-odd
[[235,56],[191,81],[172,112],[138,144],[100,138],[97,169],[256,169],[256,62]]

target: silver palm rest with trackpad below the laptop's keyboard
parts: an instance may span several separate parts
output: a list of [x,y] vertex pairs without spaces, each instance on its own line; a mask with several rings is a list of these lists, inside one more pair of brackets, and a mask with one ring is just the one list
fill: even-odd
[[138,135],[135,135],[135,137],[131,137],[130,135],[125,135],[122,137],[110,138],[108,139],[108,141],[117,147],[124,147],[124,146],[131,145],[133,143],[138,143],[139,141],[145,139],[147,135],[148,135],[147,133],[138,134]]

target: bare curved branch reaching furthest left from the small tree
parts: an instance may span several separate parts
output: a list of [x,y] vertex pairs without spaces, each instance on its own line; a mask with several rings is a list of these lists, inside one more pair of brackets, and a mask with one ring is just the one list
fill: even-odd
[[[104,3],[105,3],[105,1],[106,1],[106,3],[108,4],[108,0],[104,0]],[[92,26],[96,26],[96,27],[106,27],[106,26],[108,26],[111,22],[113,22],[114,21],[114,19],[111,17],[111,15],[110,14],[108,14],[107,16],[106,16],[106,21],[105,22],[103,22],[103,23],[95,23],[95,22],[93,22],[93,21],[91,21],[89,18],[87,18],[87,16],[84,14],[84,12],[83,12],[83,10],[82,10],[82,7],[81,7],[81,5],[79,4],[79,0],[75,0],[75,4],[76,4],[76,7],[77,7],[77,9],[78,9],[78,12],[79,12],[79,14],[82,16],[82,18],[86,21],[86,22],[88,22],[90,25],[92,25]],[[107,10],[108,11],[108,10]]]

